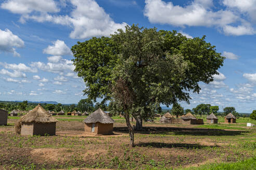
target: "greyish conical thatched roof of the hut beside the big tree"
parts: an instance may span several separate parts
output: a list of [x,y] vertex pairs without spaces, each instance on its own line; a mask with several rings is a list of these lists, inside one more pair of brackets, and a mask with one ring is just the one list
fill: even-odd
[[98,110],[94,111],[91,115],[89,115],[86,119],[84,119],[84,123],[96,123],[96,122],[108,124],[108,123],[114,123],[114,120],[99,108]]

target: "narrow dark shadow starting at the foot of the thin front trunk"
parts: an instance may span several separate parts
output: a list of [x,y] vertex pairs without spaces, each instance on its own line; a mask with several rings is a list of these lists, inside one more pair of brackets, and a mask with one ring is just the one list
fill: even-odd
[[186,149],[202,149],[202,148],[213,148],[219,146],[204,146],[199,144],[182,144],[182,143],[158,143],[158,142],[151,142],[151,143],[138,143],[135,144],[138,147],[153,147],[153,148],[186,148]]

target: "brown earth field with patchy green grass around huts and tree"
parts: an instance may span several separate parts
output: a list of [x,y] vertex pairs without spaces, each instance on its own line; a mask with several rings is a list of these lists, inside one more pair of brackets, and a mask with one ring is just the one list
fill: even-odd
[[245,118],[232,125],[147,122],[135,147],[127,145],[123,118],[114,117],[115,135],[100,136],[83,133],[85,117],[55,118],[56,136],[21,137],[14,134],[18,118],[9,117],[0,126],[0,169],[255,169],[256,128],[245,127]]

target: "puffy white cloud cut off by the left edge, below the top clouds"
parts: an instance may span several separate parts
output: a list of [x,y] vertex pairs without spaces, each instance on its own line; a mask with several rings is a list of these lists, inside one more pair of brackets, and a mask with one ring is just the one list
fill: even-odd
[[14,56],[20,56],[14,47],[23,47],[24,41],[20,39],[17,35],[12,34],[8,29],[5,31],[0,30],[0,51],[10,52]]

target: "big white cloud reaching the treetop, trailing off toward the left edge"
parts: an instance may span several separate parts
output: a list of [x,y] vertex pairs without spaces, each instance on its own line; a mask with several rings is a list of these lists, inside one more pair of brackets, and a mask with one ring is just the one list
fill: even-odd
[[[48,1],[51,2],[50,0]],[[8,9],[14,13],[21,13],[21,21],[32,19],[37,22],[47,21],[53,22],[55,24],[70,26],[73,28],[73,31],[69,36],[71,38],[78,39],[89,38],[92,36],[109,36],[109,34],[114,33],[114,31],[117,31],[117,29],[124,29],[125,25],[127,25],[125,22],[114,22],[113,19],[105,12],[102,7],[97,4],[95,0],[71,0],[70,3],[73,8],[69,16],[52,15],[49,13],[58,11],[56,5],[53,3],[52,8],[49,9],[32,8],[37,12],[32,12],[31,10],[28,10],[28,12],[17,12],[17,10],[12,10],[11,8],[7,7],[5,7],[5,9]],[[19,6],[26,5],[27,4],[25,4],[23,1],[19,1]],[[25,9],[22,11],[25,11]]]

